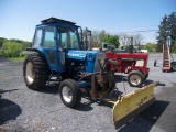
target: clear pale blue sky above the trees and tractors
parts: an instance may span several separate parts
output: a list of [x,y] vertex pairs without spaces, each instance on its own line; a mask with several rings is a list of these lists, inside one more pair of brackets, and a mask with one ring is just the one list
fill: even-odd
[[162,18],[174,11],[176,0],[0,0],[0,37],[31,42],[35,25],[55,16],[91,31],[140,33],[155,43]]

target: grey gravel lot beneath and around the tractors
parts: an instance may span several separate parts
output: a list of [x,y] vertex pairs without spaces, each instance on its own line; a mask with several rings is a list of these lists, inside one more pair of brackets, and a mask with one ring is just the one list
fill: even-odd
[[[150,54],[150,76],[144,84],[160,79],[155,87],[156,101],[119,130],[111,123],[111,106],[108,103],[82,98],[77,109],[67,108],[59,98],[58,88],[28,89],[22,63],[0,58],[0,132],[175,132],[176,72],[163,73],[158,56]],[[154,59],[158,59],[157,67],[153,66]],[[129,86],[125,74],[122,77],[117,74],[117,87],[122,92],[124,87],[128,92],[138,89]]]

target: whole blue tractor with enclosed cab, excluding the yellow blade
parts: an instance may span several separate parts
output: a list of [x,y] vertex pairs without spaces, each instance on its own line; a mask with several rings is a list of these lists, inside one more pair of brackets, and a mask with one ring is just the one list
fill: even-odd
[[70,21],[50,18],[36,25],[23,64],[28,88],[40,90],[55,78],[62,101],[70,108],[80,102],[82,92],[102,99],[117,91],[113,69],[107,66],[112,62],[103,52],[91,51],[91,45],[88,50],[84,38],[81,28]]

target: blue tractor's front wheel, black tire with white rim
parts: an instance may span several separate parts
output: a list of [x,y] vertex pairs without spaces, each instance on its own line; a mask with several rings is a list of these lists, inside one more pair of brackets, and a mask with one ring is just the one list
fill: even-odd
[[73,79],[66,79],[61,82],[59,95],[63,103],[69,108],[75,108],[80,103],[80,89],[78,84]]

